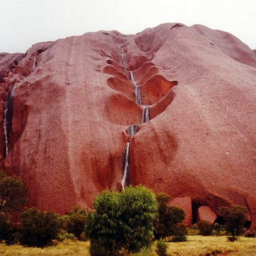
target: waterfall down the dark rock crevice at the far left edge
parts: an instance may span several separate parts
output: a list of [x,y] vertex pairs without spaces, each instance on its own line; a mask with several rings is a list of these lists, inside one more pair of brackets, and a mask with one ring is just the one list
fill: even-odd
[[[11,124],[11,121],[12,121],[10,119],[10,115],[11,115],[11,118],[12,118],[12,103],[13,103],[12,100],[13,100],[13,94],[14,94],[14,91],[15,91],[15,88],[17,87],[17,85],[18,85],[18,83],[14,84],[14,86],[12,88],[12,91],[8,94],[6,102],[4,103],[4,107],[5,107],[5,110],[4,110],[4,144],[5,144],[6,156],[9,153],[8,137],[9,137],[9,132],[10,132],[10,124]],[[11,112],[11,114],[10,114],[10,112]]]

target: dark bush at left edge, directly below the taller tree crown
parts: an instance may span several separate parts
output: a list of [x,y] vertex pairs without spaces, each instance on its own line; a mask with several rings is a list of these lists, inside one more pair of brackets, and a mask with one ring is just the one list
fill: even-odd
[[0,240],[5,240],[6,245],[16,242],[17,228],[12,224],[11,216],[0,212]]

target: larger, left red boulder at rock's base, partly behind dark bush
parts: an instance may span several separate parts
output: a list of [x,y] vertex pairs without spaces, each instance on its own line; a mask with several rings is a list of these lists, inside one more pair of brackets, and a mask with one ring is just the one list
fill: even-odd
[[172,201],[168,202],[168,205],[182,208],[185,212],[185,219],[182,224],[187,227],[192,225],[192,201],[189,196],[176,197]]

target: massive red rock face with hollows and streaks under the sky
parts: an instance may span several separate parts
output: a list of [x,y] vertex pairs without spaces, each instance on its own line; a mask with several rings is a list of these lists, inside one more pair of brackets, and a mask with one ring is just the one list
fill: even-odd
[[30,206],[92,207],[100,191],[120,188],[130,141],[127,182],[190,197],[195,218],[200,206],[218,215],[241,204],[256,226],[256,54],[238,38],[169,23],[0,56],[3,118],[10,102],[1,160],[26,181]]

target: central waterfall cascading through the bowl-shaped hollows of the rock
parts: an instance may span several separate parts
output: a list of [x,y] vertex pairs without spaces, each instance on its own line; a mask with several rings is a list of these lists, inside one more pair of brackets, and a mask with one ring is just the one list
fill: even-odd
[[[122,53],[121,64],[123,65],[124,70],[127,70],[126,59],[125,59],[124,50],[123,50],[124,41],[125,41],[125,38],[123,39],[122,44],[121,44],[121,53]],[[150,120],[149,106],[142,105],[140,86],[138,86],[136,84],[136,81],[134,79],[134,74],[132,71],[130,71],[130,80],[134,84],[135,102],[138,105],[142,106],[141,123],[148,122]],[[138,124],[128,126],[127,133],[130,137],[133,137],[137,133],[137,131],[138,131]],[[124,149],[122,175],[123,175],[122,176],[122,190],[124,190],[124,188],[126,186],[130,185],[130,142],[126,143],[126,146]]]

